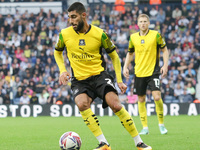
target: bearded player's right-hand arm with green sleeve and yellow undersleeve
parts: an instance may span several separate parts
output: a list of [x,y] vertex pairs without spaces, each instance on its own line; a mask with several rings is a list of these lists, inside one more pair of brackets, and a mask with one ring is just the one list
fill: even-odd
[[110,56],[112,60],[113,67],[115,69],[118,87],[120,88],[122,93],[124,93],[127,89],[127,86],[122,82],[121,62],[120,62],[117,52],[115,51],[116,47],[105,32],[103,32],[102,34],[101,41],[102,41],[102,47],[105,48],[106,52],[108,53],[108,55]]

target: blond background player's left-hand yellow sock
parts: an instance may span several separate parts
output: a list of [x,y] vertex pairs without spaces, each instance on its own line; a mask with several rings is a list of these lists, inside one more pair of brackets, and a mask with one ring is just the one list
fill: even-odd
[[139,102],[138,101],[140,120],[142,122],[143,128],[147,127],[147,109],[146,109],[145,104],[146,104],[146,102]]

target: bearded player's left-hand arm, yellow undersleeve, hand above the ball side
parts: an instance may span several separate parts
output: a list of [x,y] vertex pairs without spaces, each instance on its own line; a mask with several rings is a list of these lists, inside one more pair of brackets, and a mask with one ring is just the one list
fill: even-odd
[[60,33],[59,40],[55,45],[54,58],[60,70],[59,83],[66,85],[67,81],[70,79],[70,74],[67,72],[65,68],[64,57],[63,57],[64,47],[65,47],[65,44],[63,41],[62,34]]

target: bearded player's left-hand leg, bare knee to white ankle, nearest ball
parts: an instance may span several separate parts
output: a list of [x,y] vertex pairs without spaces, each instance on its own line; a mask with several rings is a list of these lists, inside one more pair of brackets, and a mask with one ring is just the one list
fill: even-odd
[[79,108],[79,111],[82,115],[82,118],[85,124],[88,126],[90,131],[94,134],[94,136],[97,138],[99,143],[101,142],[108,143],[101,131],[98,118],[92,112],[90,108],[92,99],[86,93],[82,93],[75,97],[75,103]]

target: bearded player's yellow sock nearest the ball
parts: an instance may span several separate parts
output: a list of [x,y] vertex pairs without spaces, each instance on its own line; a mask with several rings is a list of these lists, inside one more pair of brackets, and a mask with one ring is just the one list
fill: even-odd
[[99,135],[103,134],[99,126],[99,120],[90,108],[85,111],[80,111],[80,113],[85,124],[88,126],[90,131],[92,131],[95,137],[98,137]]

